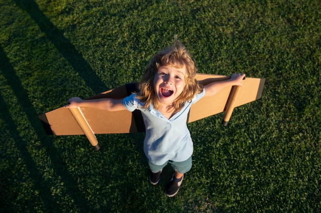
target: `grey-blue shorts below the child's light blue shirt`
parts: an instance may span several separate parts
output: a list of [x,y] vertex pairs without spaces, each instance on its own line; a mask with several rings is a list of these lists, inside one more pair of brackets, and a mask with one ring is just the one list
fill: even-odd
[[167,163],[170,163],[172,165],[172,168],[175,170],[175,172],[179,172],[179,173],[184,174],[184,173],[187,173],[188,171],[190,171],[192,168],[192,156],[182,162],[175,162],[172,160],[168,160],[163,165],[155,165],[154,163],[148,162],[149,168],[152,171],[152,173],[159,172],[167,165]]

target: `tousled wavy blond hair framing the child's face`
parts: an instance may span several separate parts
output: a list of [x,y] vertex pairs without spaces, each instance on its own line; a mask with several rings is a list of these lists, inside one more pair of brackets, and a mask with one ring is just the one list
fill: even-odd
[[186,47],[174,36],[174,44],[156,53],[145,69],[145,74],[139,82],[139,93],[137,99],[145,103],[144,108],[153,104],[155,109],[159,107],[159,101],[154,91],[154,76],[161,66],[186,67],[185,82],[183,92],[174,100],[174,113],[181,110],[185,102],[191,101],[197,93],[203,91],[203,86],[195,79],[197,68]]

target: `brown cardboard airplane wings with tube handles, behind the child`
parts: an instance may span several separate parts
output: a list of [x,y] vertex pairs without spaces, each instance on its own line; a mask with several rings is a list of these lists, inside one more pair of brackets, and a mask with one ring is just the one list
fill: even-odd
[[[200,84],[207,85],[215,81],[227,80],[230,77],[209,74],[197,74]],[[228,87],[215,96],[200,99],[193,104],[188,123],[225,111],[223,125],[227,125],[233,108],[258,100],[262,97],[265,79],[246,78],[243,87]],[[126,84],[115,89],[97,94],[88,99],[114,98],[122,99],[137,89],[137,83]],[[85,134],[95,147],[98,142],[94,134],[113,134],[144,132],[145,125],[140,111],[127,110],[109,112],[93,108],[58,108],[39,115],[48,135]],[[97,147],[99,149],[99,147]]]

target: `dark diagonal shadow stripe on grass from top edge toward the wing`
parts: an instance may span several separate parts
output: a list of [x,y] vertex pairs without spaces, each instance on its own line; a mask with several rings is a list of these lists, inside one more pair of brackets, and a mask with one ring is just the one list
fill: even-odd
[[22,10],[28,12],[30,17],[37,23],[39,29],[44,32],[47,38],[53,43],[55,48],[64,56],[64,58],[73,67],[75,72],[81,76],[86,85],[95,93],[106,90],[104,82],[95,74],[88,62],[83,58],[73,44],[65,38],[63,32],[59,31],[46,15],[39,9],[33,0],[15,0],[15,3]]

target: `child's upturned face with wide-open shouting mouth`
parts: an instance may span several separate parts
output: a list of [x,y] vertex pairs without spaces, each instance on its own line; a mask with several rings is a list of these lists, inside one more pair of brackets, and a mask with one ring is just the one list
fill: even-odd
[[160,104],[170,106],[182,93],[186,82],[186,66],[160,66],[154,76],[154,90]]

